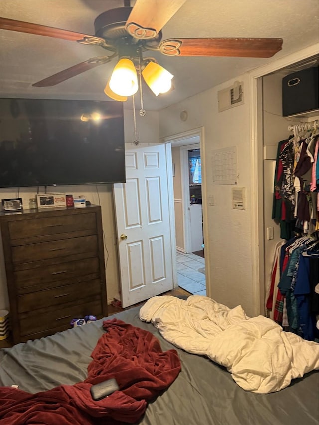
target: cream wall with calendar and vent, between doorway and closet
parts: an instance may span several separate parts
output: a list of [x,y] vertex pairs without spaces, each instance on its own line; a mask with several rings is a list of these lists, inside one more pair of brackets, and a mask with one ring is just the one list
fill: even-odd
[[[205,240],[206,268],[209,268],[208,294],[217,302],[235,307],[241,304],[248,315],[254,315],[252,282],[250,181],[250,108],[243,105],[218,112],[217,92],[243,81],[248,93],[247,75],[236,77],[183,102],[160,111],[160,138],[194,128],[204,127],[202,175],[206,193],[203,199],[215,197],[215,206],[207,207],[204,217],[209,240]],[[245,99],[245,97],[244,97]],[[180,112],[188,112],[187,121]],[[232,209],[231,185],[212,184],[212,151],[237,146],[238,186],[246,188],[246,210]]]

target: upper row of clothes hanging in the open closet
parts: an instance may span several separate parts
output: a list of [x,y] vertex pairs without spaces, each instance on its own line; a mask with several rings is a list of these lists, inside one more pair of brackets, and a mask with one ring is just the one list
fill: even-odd
[[282,239],[319,229],[318,122],[313,127],[309,137],[294,134],[278,143],[272,218]]

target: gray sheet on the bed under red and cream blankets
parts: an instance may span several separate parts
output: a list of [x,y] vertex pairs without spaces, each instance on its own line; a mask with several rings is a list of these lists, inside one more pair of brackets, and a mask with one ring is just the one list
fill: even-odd
[[[163,351],[175,348],[139,319],[140,307],[109,316],[148,330]],[[35,393],[87,377],[102,321],[0,350],[0,385]],[[147,407],[141,425],[318,425],[318,371],[272,394],[244,391],[227,370],[208,358],[177,349],[182,370]]]

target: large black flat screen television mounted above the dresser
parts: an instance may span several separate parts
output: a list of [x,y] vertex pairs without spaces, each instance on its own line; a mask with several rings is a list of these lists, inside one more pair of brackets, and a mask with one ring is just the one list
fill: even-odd
[[121,102],[0,99],[0,187],[121,182]]

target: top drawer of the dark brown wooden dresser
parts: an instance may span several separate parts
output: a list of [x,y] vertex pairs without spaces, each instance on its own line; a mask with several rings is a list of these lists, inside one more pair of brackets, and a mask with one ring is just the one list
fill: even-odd
[[96,229],[94,213],[16,220],[9,223],[11,239],[32,238],[88,229]]

